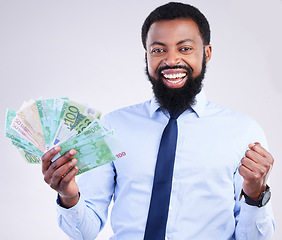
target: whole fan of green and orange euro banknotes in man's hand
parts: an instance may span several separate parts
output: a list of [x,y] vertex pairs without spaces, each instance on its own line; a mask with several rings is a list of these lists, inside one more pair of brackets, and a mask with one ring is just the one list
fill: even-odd
[[101,112],[68,98],[30,100],[18,111],[7,109],[5,135],[28,163],[40,163],[57,145],[61,150],[52,161],[76,149],[78,175],[126,155],[100,117]]

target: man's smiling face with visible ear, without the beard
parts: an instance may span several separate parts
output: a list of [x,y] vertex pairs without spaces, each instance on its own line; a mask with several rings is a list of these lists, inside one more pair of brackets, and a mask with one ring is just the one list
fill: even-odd
[[210,60],[211,46],[203,45],[197,24],[190,19],[155,22],[149,29],[146,42],[148,73],[161,77],[168,88],[181,88],[188,79],[188,70],[183,68],[158,70],[163,67],[185,66],[191,77],[200,75],[204,51],[206,62]]

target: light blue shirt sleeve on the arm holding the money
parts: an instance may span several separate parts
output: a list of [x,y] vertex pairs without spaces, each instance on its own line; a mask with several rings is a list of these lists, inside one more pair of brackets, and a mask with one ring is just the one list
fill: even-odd
[[72,208],[59,205],[59,227],[75,240],[93,240],[105,225],[115,186],[115,170],[109,163],[84,173],[78,180],[80,199]]

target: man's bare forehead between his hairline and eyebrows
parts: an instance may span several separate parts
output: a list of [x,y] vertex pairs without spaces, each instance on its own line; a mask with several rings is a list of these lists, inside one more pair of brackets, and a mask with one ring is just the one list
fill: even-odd
[[173,43],[191,39],[203,44],[198,25],[191,19],[159,21],[151,25],[147,35],[147,47],[153,42]]

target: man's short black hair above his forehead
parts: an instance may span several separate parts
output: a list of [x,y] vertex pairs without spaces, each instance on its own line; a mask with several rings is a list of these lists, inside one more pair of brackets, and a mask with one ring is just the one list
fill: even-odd
[[146,49],[148,31],[153,23],[175,19],[193,20],[198,25],[204,45],[210,44],[210,25],[206,17],[200,12],[200,10],[189,4],[184,4],[180,2],[170,2],[156,8],[145,19],[142,26],[143,47]]

